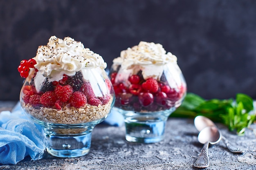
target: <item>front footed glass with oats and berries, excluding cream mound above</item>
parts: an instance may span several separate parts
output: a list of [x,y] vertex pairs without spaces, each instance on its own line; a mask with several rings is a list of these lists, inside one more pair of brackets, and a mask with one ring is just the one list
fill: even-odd
[[106,119],[114,102],[110,79],[99,67],[51,78],[33,69],[20,92],[22,109],[43,127],[47,152],[56,157],[86,155],[93,128]]

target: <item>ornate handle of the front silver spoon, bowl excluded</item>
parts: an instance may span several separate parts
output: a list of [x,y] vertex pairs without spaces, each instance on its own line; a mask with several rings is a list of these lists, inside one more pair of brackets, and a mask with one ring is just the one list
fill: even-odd
[[209,147],[209,141],[207,141],[198,157],[198,159],[194,163],[195,168],[206,168],[209,166],[209,156],[208,156],[208,147]]

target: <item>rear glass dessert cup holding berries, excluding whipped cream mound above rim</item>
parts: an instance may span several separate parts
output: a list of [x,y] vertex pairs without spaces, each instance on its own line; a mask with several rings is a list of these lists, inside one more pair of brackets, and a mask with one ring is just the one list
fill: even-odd
[[109,75],[116,96],[114,107],[125,119],[126,140],[161,141],[169,115],[186,95],[186,82],[177,64],[138,64],[127,69],[114,63]]

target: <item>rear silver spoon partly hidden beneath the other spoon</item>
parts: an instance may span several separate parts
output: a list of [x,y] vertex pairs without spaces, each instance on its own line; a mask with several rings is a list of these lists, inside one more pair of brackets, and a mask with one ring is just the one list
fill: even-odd
[[[210,119],[208,119],[207,117],[204,117],[204,116],[195,117],[194,124],[195,124],[195,128],[199,132],[207,126],[215,126],[217,128],[217,126],[213,123],[213,121],[211,121]],[[226,144],[227,148],[231,152],[234,152],[234,153],[243,153],[244,152],[240,148],[237,148],[236,146],[234,146],[234,144],[230,144],[230,142],[224,136],[222,136],[221,139]]]

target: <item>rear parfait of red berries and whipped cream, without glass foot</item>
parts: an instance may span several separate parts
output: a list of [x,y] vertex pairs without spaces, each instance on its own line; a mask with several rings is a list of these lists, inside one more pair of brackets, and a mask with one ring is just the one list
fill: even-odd
[[121,51],[113,60],[110,80],[115,107],[137,113],[175,109],[186,94],[177,57],[153,42],[140,42]]

